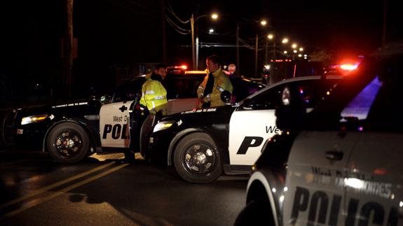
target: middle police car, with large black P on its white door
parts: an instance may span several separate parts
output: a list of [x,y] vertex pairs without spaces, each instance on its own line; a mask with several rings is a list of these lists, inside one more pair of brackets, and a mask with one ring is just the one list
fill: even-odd
[[342,76],[305,76],[266,87],[235,106],[184,111],[160,120],[149,138],[152,160],[174,165],[191,183],[210,183],[227,174],[250,171],[264,141],[280,132],[275,106],[285,85],[296,85],[309,108]]

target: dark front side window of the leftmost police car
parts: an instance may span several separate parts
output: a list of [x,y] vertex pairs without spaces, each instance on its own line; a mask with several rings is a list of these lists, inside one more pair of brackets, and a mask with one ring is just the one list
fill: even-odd
[[118,87],[114,92],[112,103],[134,100],[137,94],[141,94],[142,85],[145,80],[145,78],[137,78]]

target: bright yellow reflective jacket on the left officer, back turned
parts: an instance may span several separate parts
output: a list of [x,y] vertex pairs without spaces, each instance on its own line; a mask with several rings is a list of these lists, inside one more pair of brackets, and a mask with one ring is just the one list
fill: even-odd
[[146,106],[150,113],[161,111],[167,115],[167,90],[159,80],[153,80],[152,76],[142,86],[142,98],[140,104]]

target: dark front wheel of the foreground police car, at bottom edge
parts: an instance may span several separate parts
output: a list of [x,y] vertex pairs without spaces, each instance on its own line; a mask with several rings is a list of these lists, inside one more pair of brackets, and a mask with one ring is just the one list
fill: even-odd
[[252,201],[239,213],[234,226],[275,225],[271,216],[272,213],[268,202]]

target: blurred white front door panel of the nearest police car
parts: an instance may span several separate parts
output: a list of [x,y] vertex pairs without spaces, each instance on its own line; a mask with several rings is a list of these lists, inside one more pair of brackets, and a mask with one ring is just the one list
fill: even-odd
[[337,130],[299,134],[287,163],[285,225],[343,224],[343,179],[356,140]]

